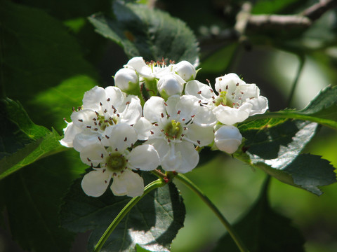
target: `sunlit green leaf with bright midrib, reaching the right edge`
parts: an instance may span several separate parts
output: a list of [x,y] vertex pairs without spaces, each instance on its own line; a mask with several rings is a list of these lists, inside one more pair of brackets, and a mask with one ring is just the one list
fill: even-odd
[[295,118],[310,120],[337,130],[337,86],[324,88],[317,96],[299,111],[267,112],[263,115],[252,116],[249,120],[257,118]]

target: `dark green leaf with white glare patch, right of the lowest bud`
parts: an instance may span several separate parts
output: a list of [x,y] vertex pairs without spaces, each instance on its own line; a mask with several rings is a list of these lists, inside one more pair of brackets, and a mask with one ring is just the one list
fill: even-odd
[[[244,123],[239,130],[246,141],[235,158],[262,169],[279,181],[316,195],[322,194],[318,186],[336,182],[336,174],[329,162],[313,155],[300,155],[315,135],[317,123],[272,118]],[[304,163],[306,157],[312,162]],[[300,162],[305,165],[299,165]]]

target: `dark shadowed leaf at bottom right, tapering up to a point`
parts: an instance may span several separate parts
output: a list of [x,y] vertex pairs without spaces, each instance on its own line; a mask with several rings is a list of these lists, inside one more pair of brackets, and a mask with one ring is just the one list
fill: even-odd
[[[304,251],[303,235],[293,227],[289,218],[278,214],[270,207],[266,189],[233,228],[251,252]],[[239,249],[230,235],[226,234],[213,249],[213,252],[217,251],[234,252]]]

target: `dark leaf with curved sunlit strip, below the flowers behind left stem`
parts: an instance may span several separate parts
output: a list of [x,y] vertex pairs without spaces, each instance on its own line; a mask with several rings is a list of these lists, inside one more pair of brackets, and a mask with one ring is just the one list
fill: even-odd
[[[145,183],[156,179],[143,174]],[[103,232],[130,197],[112,195],[111,190],[101,197],[88,197],[81,189],[81,179],[75,181],[62,206],[62,226],[73,232],[93,230],[88,251],[92,251]],[[150,251],[169,251],[172,240],[185,220],[185,206],[176,186],[158,188],[145,195],[119,223],[107,239],[102,251],[136,251],[136,244]]]

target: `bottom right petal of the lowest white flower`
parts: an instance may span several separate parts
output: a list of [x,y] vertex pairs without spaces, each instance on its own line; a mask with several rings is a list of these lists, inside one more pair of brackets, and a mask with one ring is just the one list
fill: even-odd
[[137,197],[144,193],[144,181],[138,174],[125,169],[123,174],[114,177],[110,188],[114,195]]

